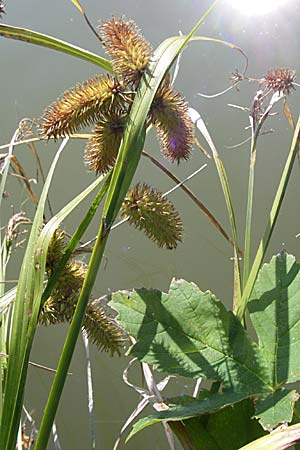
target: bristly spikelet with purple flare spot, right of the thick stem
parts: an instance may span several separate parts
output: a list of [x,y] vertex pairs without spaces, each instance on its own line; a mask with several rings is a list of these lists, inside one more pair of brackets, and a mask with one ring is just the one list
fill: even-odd
[[185,98],[169,83],[157,91],[150,109],[150,120],[155,125],[162,152],[177,163],[188,159],[194,142],[194,126]]

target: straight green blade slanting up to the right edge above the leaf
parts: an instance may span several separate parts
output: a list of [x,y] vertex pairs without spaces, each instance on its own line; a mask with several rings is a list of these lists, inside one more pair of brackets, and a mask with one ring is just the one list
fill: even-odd
[[263,238],[259,243],[258,250],[257,250],[256,256],[255,256],[245,289],[243,291],[241,302],[237,309],[237,316],[240,319],[242,319],[244,317],[249,297],[251,295],[254,283],[255,283],[257,275],[258,275],[258,271],[263,262],[263,258],[267,251],[268,244],[270,242],[270,239],[271,239],[271,236],[272,236],[272,233],[274,230],[274,226],[275,226],[278,214],[279,214],[279,210],[280,210],[283,198],[284,198],[284,194],[286,192],[287,185],[288,185],[288,182],[290,179],[290,175],[291,175],[292,168],[294,165],[295,157],[296,157],[298,149],[299,149],[299,134],[300,134],[300,116],[298,118],[298,122],[297,122],[297,125],[295,128],[295,131],[294,131],[290,151],[289,151],[289,154],[288,154],[288,157],[287,157],[287,160],[285,163],[285,167],[284,167],[282,175],[281,175],[279,186],[278,186],[275,198],[274,198],[274,202],[273,202],[273,205],[272,205],[272,208],[270,211],[269,220],[268,220],[267,226],[265,228]]

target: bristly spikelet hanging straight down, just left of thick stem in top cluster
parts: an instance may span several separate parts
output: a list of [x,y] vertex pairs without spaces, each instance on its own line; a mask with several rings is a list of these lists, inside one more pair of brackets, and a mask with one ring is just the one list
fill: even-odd
[[120,110],[111,109],[101,114],[84,153],[89,170],[105,173],[114,165],[125,124],[126,113]]

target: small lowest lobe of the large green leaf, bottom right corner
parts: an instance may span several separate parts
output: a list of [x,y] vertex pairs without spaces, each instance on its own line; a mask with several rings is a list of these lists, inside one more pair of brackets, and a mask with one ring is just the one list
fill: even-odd
[[272,431],[280,423],[291,422],[298,398],[296,391],[278,389],[275,393],[257,399],[255,417],[265,430]]

